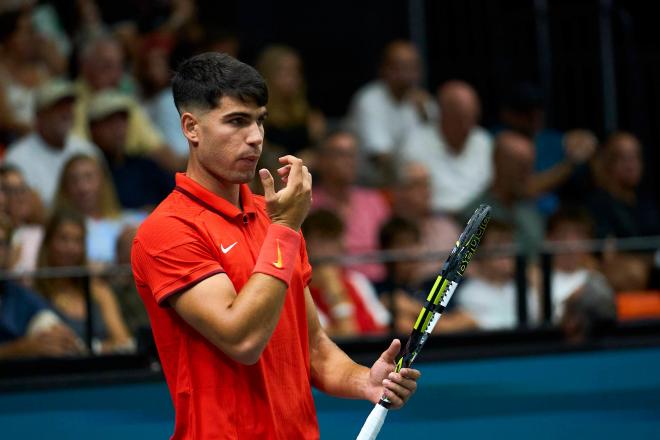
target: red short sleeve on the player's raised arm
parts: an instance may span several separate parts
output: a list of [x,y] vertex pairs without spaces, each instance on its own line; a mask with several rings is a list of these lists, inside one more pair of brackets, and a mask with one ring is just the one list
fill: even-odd
[[149,289],[159,305],[170,296],[224,272],[220,262],[199,240],[150,252],[139,239],[133,242],[131,264],[135,282]]

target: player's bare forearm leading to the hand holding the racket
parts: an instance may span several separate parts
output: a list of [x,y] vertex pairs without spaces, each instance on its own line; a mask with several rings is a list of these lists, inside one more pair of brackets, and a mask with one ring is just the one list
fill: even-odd
[[356,364],[321,332],[311,346],[312,383],[336,397],[368,399],[369,369]]

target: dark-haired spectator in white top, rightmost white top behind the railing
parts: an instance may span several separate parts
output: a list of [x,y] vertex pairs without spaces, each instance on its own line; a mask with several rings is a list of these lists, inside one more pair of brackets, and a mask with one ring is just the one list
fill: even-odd
[[552,319],[558,323],[564,314],[565,302],[597,271],[595,257],[579,247],[581,243],[593,239],[591,215],[577,206],[559,208],[548,219],[547,239],[565,247],[553,257]]

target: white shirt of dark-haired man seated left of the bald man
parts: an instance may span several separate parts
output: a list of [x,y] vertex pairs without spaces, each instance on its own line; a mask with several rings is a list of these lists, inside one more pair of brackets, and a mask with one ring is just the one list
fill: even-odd
[[[429,120],[436,120],[435,102],[425,107]],[[396,154],[406,134],[423,121],[412,103],[396,101],[384,82],[373,81],[355,93],[347,123],[368,153]]]

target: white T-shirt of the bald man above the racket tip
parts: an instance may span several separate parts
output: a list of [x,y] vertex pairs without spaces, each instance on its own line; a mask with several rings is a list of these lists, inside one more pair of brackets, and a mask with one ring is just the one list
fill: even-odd
[[431,175],[434,210],[463,210],[488,188],[493,177],[493,139],[481,127],[474,128],[460,154],[449,150],[436,123],[424,124],[406,138],[401,156],[426,165]]

